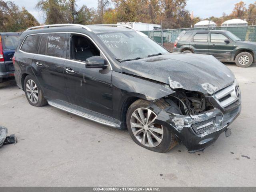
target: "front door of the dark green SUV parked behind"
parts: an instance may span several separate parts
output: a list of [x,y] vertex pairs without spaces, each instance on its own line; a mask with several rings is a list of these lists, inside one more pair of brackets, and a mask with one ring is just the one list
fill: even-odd
[[[230,43],[225,43],[225,40],[229,40]],[[209,42],[209,54],[216,57],[217,59],[231,59],[231,53],[234,49],[234,44],[228,36],[218,32],[210,33],[210,42]]]

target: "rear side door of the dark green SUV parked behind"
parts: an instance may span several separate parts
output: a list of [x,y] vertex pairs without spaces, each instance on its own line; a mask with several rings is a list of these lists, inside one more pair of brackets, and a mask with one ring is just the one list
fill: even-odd
[[190,41],[194,53],[208,54],[208,32],[197,32]]

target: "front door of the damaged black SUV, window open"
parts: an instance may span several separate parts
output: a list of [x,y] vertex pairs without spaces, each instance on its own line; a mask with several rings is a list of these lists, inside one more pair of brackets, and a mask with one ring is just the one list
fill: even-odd
[[64,63],[64,76],[69,102],[112,117],[112,70],[85,67],[87,58],[104,56],[87,36],[71,34],[68,46],[70,59]]

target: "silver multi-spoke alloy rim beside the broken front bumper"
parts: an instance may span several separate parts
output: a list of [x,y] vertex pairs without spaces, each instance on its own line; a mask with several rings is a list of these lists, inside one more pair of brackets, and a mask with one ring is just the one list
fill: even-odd
[[138,108],[131,116],[130,124],[136,139],[144,146],[158,146],[164,136],[162,125],[154,123],[156,114],[148,108]]

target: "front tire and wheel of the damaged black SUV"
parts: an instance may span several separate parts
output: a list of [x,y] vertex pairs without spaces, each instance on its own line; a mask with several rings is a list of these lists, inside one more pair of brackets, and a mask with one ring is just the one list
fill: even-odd
[[[168,104],[164,101],[155,103],[161,109]],[[165,153],[178,143],[169,128],[153,123],[157,115],[153,109],[147,108],[150,102],[136,100],[127,111],[126,124],[132,140],[139,146],[154,152]]]

